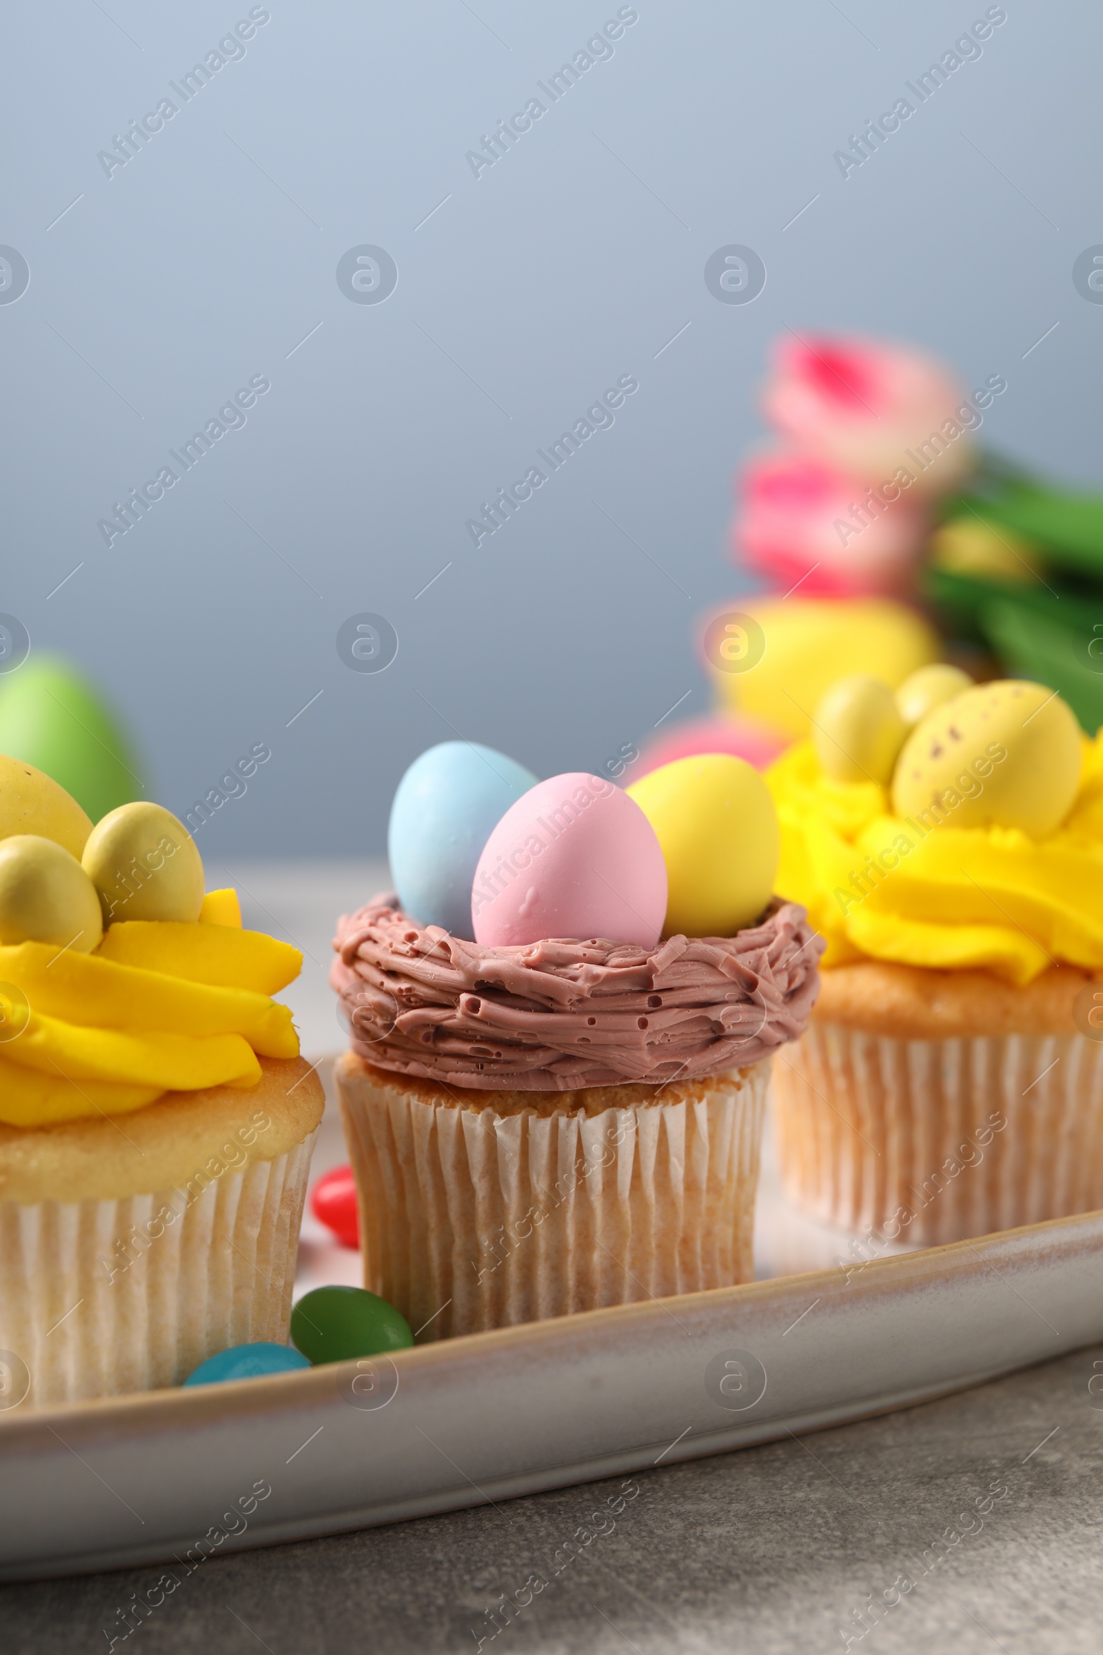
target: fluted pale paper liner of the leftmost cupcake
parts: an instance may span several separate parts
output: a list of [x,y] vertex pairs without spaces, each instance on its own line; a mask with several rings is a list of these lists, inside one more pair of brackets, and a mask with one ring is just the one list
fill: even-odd
[[0,1349],[30,1370],[25,1405],[179,1385],[228,1346],[284,1344],[314,1137],[190,1203],[0,1202]]

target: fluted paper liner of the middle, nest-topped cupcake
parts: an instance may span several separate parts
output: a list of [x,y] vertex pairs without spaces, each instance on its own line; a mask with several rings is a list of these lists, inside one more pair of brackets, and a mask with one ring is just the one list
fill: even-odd
[[364,1286],[428,1341],[749,1281],[767,1081],[769,1059],[539,1114],[531,1092],[440,1104],[346,1056]]

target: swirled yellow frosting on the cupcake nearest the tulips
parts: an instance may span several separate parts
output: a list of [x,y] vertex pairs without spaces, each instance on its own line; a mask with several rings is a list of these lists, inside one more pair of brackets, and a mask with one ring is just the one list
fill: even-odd
[[[1103,732],[1101,732],[1103,735]],[[822,965],[896,960],[1030,983],[1052,963],[1103,970],[1103,741],[1085,740],[1075,804],[1045,839],[898,818],[875,781],[825,776],[810,741],[767,773],[776,889],[827,938]]]

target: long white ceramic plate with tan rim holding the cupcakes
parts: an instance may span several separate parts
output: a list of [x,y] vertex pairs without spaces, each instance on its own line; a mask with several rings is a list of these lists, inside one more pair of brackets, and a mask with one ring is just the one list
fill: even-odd
[[[342,1158],[327,1112],[314,1170]],[[827,1268],[367,1365],[0,1413],[0,1579],[162,1561],[182,1579],[210,1554],[721,1453],[1103,1341],[1103,1213],[855,1268],[767,1163],[759,1256]],[[357,1281],[359,1259],[308,1220],[301,1289],[332,1279]]]

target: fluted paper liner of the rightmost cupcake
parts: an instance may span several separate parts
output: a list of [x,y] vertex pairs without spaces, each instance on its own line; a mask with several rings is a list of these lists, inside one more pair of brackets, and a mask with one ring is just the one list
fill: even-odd
[[814,1021],[774,1109],[787,1195],[845,1230],[934,1246],[1103,1208],[1103,1046],[1082,1034]]

